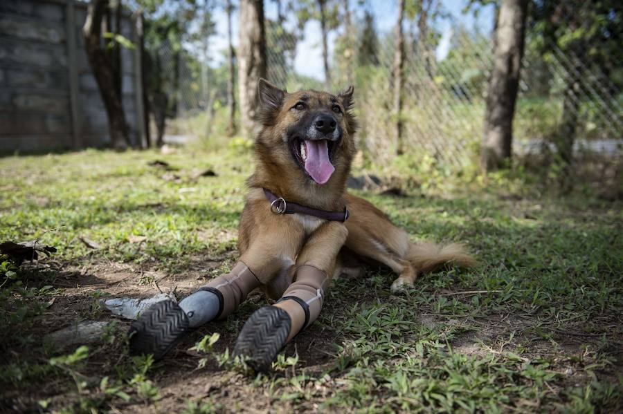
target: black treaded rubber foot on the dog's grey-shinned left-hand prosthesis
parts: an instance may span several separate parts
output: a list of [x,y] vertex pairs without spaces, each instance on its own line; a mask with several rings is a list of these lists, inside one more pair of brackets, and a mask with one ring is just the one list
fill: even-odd
[[134,355],[154,354],[161,359],[190,331],[186,313],[174,301],[162,301],[145,310],[129,330]]

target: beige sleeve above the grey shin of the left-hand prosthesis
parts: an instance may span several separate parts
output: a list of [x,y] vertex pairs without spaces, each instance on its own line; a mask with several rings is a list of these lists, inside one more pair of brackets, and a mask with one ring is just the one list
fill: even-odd
[[247,265],[239,261],[231,272],[210,281],[201,290],[213,292],[219,297],[221,308],[217,314],[217,319],[225,319],[238,308],[238,305],[246,299],[249,292],[259,285],[260,281],[255,277],[255,274]]

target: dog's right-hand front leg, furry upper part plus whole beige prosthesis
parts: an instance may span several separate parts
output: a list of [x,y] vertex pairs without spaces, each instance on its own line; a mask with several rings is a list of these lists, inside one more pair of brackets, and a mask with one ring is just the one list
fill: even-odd
[[294,283],[275,305],[260,308],[244,323],[235,354],[256,369],[268,368],[279,350],[318,318],[347,234],[343,223],[333,221],[307,238],[293,268]]

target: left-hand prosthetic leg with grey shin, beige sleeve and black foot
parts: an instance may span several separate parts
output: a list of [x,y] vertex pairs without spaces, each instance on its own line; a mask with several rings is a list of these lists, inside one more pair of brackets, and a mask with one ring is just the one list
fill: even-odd
[[179,304],[162,301],[143,312],[130,327],[130,352],[160,359],[192,328],[224,319],[260,281],[242,261],[231,272],[213,279]]

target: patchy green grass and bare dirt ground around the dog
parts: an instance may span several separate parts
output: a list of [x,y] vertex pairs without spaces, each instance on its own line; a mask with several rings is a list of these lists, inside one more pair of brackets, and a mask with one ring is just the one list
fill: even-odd
[[[98,300],[182,297],[230,267],[252,168],[242,147],[0,159],[0,241],[58,248],[0,267],[0,410],[622,411],[621,203],[517,180],[428,175],[401,181],[405,197],[357,191],[414,241],[464,241],[481,265],[424,275],[401,297],[383,269],[336,281],[270,375],[228,353],[266,303],[257,293],[171,357],[129,357],[129,324]],[[84,320],[114,323],[89,344],[46,338]]]

